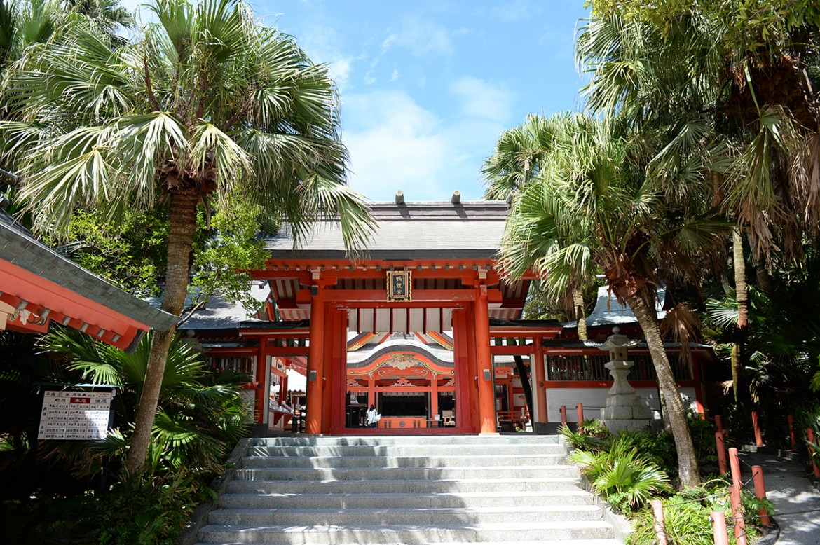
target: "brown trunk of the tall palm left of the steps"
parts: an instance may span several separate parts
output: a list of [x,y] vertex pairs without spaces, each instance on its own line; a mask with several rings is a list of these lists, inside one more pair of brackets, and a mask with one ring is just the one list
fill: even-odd
[[[173,193],[169,207],[168,221],[168,260],[166,266],[165,297],[162,299],[162,310],[180,316],[185,307],[185,296],[188,293],[188,274],[190,255],[194,245],[194,229],[197,222],[197,193]],[[145,463],[148,444],[151,443],[151,431],[154,417],[157,416],[157,402],[162,377],[165,375],[165,364],[168,359],[168,348],[174,338],[176,329],[158,332],[153,335],[151,350],[148,353],[148,369],[145,372],[143,392],[139,397],[137,415],[134,421],[134,434],[125,468],[129,475],[134,475]]]

